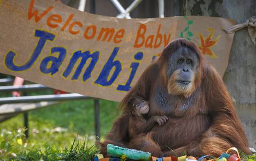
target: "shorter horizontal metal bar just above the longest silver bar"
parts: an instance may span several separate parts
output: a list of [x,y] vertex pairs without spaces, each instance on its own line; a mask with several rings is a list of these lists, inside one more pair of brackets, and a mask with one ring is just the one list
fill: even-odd
[[49,89],[49,87],[41,84],[27,84],[27,85],[6,85],[0,86],[0,91],[24,91],[35,89]]

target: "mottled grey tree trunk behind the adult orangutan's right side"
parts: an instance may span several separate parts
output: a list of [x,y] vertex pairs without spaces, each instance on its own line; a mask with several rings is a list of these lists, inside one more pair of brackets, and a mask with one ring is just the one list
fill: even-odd
[[[186,15],[231,18],[238,24],[256,15],[254,0],[187,0]],[[223,77],[242,121],[250,147],[256,148],[256,47],[247,28],[236,32]]]

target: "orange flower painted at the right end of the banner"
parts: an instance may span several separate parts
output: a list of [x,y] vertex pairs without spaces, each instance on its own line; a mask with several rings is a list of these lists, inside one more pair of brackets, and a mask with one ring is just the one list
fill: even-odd
[[198,33],[201,43],[198,47],[203,55],[207,54],[211,58],[218,58],[218,56],[211,50],[211,47],[214,47],[214,45],[219,42],[221,36],[219,35],[215,39],[211,39],[212,35],[214,35],[214,29],[208,28],[207,30],[210,32],[210,34],[206,38],[204,38],[201,33]]

